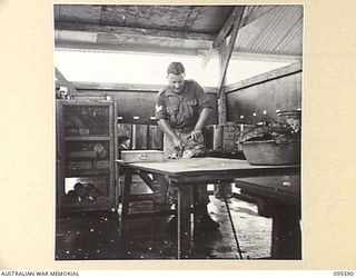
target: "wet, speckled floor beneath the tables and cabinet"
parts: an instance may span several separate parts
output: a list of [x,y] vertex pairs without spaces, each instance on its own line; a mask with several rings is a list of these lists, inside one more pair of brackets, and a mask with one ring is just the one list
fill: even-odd
[[[257,215],[254,203],[228,199],[243,259],[270,256],[271,219]],[[151,208],[150,200],[132,202],[137,212]],[[211,217],[220,224],[214,232],[194,235],[191,259],[239,259],[225,201],[210,196]],[[57,218],[56,260],[176,259],[175,236],[167,231],[171,216],[132,218],[119,232],[116,211],[76,212]]]

